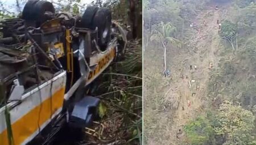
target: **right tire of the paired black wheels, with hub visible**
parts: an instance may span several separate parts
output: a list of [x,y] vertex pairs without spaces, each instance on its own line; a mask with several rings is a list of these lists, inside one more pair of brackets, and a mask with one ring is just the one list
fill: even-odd
[[106,47],[110,41],[111,25],[111,11],[107,8],[100,8],[93,19],[93,26],[98,27],[98,45],[100,47]]

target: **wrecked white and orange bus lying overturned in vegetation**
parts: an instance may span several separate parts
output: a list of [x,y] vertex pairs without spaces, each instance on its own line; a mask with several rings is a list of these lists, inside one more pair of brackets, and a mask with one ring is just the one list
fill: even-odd
[[87,7],[77,16],[28,1],[0,28],[0,144],[30,144],[39,132],[46,144],[67,123],[88,126],[100,100],[85,88],[126,50],[111,11]]

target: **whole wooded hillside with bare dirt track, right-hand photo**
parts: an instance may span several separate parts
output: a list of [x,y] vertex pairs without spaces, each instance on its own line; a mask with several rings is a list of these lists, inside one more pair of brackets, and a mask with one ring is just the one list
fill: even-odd
[[256,144],[255,1],[143,8],[144,143]]

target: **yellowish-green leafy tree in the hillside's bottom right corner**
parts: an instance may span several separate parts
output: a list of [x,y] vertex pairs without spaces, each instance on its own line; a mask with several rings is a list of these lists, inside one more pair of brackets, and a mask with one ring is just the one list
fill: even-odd
[[251,131],[254,129],[255,117],[249,110],[242,109],[241,106],[234,106],[229,101],[224,101],[220,105],[217,114],[220,126],[215,127],[217,135],[226,136],[225,145],[241,144],[246,145],[253,142]]

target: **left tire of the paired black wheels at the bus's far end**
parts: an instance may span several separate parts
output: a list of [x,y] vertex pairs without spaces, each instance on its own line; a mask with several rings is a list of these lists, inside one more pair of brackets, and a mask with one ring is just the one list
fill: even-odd
[[93,18],[96,12],[98,11],[98,7],[87,7],[84,14],[82,15],[82,28],[94,29],[93,27]]

